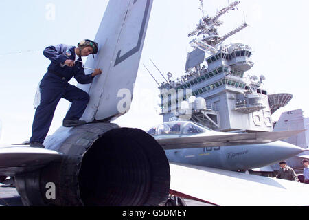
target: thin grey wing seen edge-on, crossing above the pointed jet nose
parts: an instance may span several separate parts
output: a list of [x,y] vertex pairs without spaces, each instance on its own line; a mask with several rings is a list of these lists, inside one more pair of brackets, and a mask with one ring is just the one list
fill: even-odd
[[211,135],[199,137],[179,137],[179,138],[156,138],[164,150],[183,148],[204,148],[216,146],[235,146],[242,144],[266,144],[277,140],[284,140],[297,135],[301,131],[277,131],[259,133],[236,133],[227,135]]

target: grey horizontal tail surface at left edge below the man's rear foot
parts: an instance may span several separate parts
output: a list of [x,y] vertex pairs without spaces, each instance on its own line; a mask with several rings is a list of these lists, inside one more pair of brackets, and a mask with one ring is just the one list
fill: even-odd
[[31,172],[61,158],[61,153],[43,148],[0,147],[0,176]]

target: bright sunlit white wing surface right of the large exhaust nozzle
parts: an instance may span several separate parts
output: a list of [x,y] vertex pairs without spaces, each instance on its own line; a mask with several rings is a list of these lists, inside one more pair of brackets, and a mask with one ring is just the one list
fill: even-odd
[[174,163],[170,175],[172,195],[215,206],[309,205],[309,185],[295,181]]

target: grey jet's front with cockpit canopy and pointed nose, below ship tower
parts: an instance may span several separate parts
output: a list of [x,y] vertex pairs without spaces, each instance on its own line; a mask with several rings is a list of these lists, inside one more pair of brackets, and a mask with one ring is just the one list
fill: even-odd
[[[148,131],[165,148],[169,162],[223,170],[259,168],[302,153],[303,148],[275,141],[286,139],[287,135],[300,132],[235,134],[212,131],[201,124],[190,121],[165,122]],[[233,140],[236,140],[237,146],[229,146],[236,145]],[[251,142],[256,144],[251,144]],[[263,144],[264,142],[268,143]]]

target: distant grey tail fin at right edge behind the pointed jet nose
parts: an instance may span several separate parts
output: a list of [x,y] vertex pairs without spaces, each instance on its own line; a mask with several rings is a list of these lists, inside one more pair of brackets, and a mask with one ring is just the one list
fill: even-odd
[[[306,120],[308,122],[308,119],[304,118],[302,109],[286,111],[280,116],[275,125],[274,131],[295,131],[308,129],[308,125],[306,126]],[[305,131],[296,136],[289,137],[284,141],[300,146],[301,148],[307,148],[308,138],[308,131]]]

